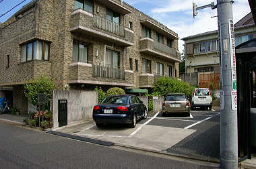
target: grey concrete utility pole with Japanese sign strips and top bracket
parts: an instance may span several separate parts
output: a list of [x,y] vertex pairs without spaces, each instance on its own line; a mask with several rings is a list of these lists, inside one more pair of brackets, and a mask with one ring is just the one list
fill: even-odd
[[220,111],[220,167],[238,167],[238,135],[237,135],[237,97],[236,97],[236,56],[234,45],[234,23],[230,0],[217,0],[197,7],[193,3],[193,16],[198,9],[205,7],[217,8],[220,35],[220,60],[222,67],[222,92]]

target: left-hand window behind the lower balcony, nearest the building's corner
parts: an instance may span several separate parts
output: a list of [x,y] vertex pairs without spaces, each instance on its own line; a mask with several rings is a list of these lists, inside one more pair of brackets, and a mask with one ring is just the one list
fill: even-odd
[[73,42],[73,62],[88,61],[88,46]]

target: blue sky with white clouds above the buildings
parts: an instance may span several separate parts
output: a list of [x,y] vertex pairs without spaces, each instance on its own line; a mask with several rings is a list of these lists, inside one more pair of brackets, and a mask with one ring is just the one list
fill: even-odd
[[[0,3],[0,15],[22,1],[24,0],[3,0]],[[0,17],[0,22],[11,17],[11,15],[30,1],[32,0],[26,0],[11,12]],[[197,16],[193,19],[193,1],[198,7],[210,4],[212,1],[216,4],[216,0],[125,0],[125,2],[133,5],[143,13],[150,15],[150,17],[160,21],[170,28],[170,30],[176,32],[179,38],[217,30],[217,17],[214,17],[217,15],[217,10],[212,10],[211,8],[199,10]],[[243,18],[250,11],[248,0],[235,0],[233,5],[234,22]],[[179,40],[180,51],[184,48],[183,44],[183,40]]]

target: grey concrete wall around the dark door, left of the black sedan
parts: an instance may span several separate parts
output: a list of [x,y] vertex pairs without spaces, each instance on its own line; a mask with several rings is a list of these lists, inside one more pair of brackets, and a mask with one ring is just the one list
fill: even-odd
[[59,127],[58,100],[67,100],[67,125],[92,118],[94,105],[98,104],[96,91],[53,91],[53,128]]

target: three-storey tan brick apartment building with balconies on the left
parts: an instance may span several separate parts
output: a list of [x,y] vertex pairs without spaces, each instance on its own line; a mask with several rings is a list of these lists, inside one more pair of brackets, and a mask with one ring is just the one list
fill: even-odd
[[59,90],[148,89],[179,77],[178,39],[123,1],[34,0],[1,24],[0,87],[22,113],[24,82],[42,74]]

